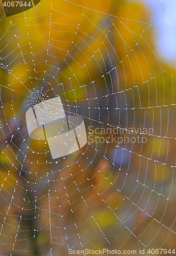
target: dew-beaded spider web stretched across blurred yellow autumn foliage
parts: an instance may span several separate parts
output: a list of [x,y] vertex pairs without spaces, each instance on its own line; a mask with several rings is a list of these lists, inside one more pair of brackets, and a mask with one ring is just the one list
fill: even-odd
[[[0,254],[172,252],[175,71],[157,55],[143,6],[41,0],[11,17],[1,7]],[[56,96],[87,137],[92,126],[116,141],[90,137],[53,160],[46,141],[29,138],[25,114]],[[124,135],[147,141],[117,143]]]

